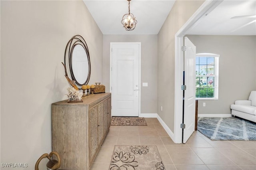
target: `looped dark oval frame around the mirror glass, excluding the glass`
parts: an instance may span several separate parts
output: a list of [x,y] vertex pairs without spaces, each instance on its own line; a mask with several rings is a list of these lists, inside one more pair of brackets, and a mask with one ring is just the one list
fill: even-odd
[[[86,52],[87,59],[88,59],[88,75],[87,75],[87,79],[84,83],[78,82],[76,80],[76,77],[74,75],[74,71],[72,69],[72,54],[73,54],[74,47],[78,44],[82,45],[82,47],[84,48],[84,50]],[[68,43],[66,45],[66,49],[65,49],[64,64],[66,65],[66,67],[69,68],[71,78],[72,78],[72,80],[75,81],[75,83],[77,85],[82,86],[82,85],[87,85],[88,84],[88,82],[90,80],[90,76],[91,76],[91,62],[90,62],[90,55],[89,55],[89,50],[88,50],[87,44],[86,44],[84,38],[82,38],[82,36],[80,36],[80,35],[73,36],[68,41]]]

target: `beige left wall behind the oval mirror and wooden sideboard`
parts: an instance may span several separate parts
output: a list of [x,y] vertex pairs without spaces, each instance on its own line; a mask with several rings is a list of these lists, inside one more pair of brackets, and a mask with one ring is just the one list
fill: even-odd
[[90,51],[90,84],[102,81],[103,35],[83,1],[1,0],[1,163],[32,170],[52,150],[51,103],[66,99],[61,62],[76,34]]

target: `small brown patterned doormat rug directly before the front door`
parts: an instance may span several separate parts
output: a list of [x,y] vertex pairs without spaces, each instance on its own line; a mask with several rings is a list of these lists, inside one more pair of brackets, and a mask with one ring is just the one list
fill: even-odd
[[147,126],[144,117],[111,117],[112,126]]

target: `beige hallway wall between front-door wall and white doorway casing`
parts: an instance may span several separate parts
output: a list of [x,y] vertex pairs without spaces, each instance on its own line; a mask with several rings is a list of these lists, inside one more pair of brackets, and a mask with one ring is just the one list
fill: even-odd
[[[178,32],[203,2],[203,0],[176,1],[158,33],[157,113],[172,132],[174,132],[174,38],[176,32]],[[161,111],[161,106],[163,107],[163,111]]]

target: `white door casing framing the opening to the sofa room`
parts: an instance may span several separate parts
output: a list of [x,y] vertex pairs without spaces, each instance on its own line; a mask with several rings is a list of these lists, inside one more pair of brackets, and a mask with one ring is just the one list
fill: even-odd
[[[175,34],[175,94],[174,94],[174,139],[175,143],[182,143],[182,107],[183,107],[183,91],[181,86],[183,84],[183,65],[184,54],[182,49],[184,43],[184,36],[186,33],[196,25],[202,16],[212,11],[222,1],[205,1],[204,4],[193,14],[193,16],[180,28]],[[193,77],[194,79],[194,77]],[[186,80],[185,80],[186,81]],[[186,110],[186,108],[184,108]],[[186,117],[186,116],[185,116]]]

